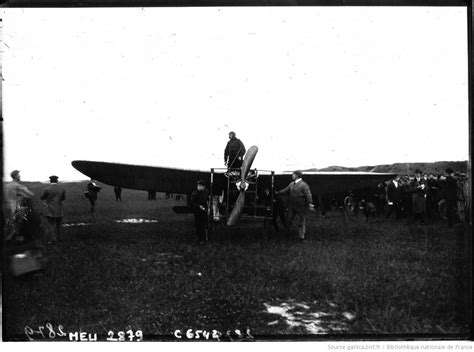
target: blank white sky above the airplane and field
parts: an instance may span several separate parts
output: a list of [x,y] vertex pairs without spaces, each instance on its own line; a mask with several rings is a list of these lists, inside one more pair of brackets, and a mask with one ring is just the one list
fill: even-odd
[[[2,9],[5,174],[468,159],[466,8]],[[9,179],[9,177],[6,177]]]

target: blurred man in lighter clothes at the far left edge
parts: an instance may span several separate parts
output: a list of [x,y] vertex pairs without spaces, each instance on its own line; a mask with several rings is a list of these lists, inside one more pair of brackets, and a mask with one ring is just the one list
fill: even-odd
[[26,202],[34,196],[33,192],[20,183],[20,171],[13,170],[10,176],[12,182],[5,185],[5,200],[7,203],[5,218],[9,225],[9,230],[5,232],[7,241],[20,232],[20,226],[15,221],[15,214],[18,214],[19,209],[27,206]]

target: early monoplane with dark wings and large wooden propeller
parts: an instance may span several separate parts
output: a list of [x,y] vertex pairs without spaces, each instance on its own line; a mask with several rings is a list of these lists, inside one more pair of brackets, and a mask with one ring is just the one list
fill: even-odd
[[[232,201],[231,209],[230,207],[227,209],[227,214],[229,214],[227,225],[230,226],[240,218],[246,204],[245,196],[249,191],[254,192],[252,190],[265,188],[271,191],[278,190],[291,182],[292,172],[290,171],[252,169],[257,152],[256,146],[250,147],[245,154],[242,167],[237,170],[189,170],[85,160],[75,160],[72,166],[99,182],[134,190],[190,195],[196,188],[197,180],[206,180],[209,182],[210,193],[213,196],[223,198],[225,195],[227,199],[230,199],[230,192],[238,193]],[[375,172],[305,172],[303,179],[310,186],[313,195],[323,195],[364,189],[393,177],[395,174]],[[255,200],[256,197],[253,199]],[[214,217],[215,215],[214,210]]]

